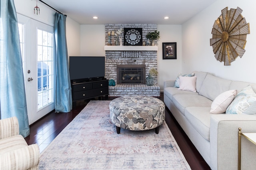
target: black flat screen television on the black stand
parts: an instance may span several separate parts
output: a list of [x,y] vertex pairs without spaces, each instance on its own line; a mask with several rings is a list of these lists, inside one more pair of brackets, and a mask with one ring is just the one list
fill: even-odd
[[105,57],[70,56],[69,72],[73,82],[104,79]]

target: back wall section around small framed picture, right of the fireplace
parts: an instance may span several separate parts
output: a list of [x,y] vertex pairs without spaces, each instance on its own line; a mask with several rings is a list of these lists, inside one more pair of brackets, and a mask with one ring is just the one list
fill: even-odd
[[[157,30],[160,32],[157,52],[158,85],[163,91],[164,81],[175,80],[178,73],[182,71],[182,27],[181,25],[158,25]],[[163,42],[177,43],[177,59],[163,59]]]

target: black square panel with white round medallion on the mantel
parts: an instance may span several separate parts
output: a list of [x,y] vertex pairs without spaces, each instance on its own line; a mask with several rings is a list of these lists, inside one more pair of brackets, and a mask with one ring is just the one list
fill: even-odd
[[142,28],[124,28],[124,45],[142,45]]

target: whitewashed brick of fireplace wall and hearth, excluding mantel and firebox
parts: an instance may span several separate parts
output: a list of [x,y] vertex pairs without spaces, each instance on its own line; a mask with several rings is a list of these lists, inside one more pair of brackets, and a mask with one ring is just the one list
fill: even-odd
[[[142,40],[146,41],[146,34],[157,29],[156,24],[106,24],[105,43],[108,44],[108,32],[115,32],[120,28],[142,28]],[[115,37],[115,36],[114,36]],[[122,40],[124,34],[122,34]],[[115,40],[114,40],[115,42]],[[146,65],[146,77],[151,68],[157,70],[157,51],[106,51],[106,78],[116,82],[116,65]],[[148,85],[116,85],[109,87],[110,96],[146,95],[160,96],[157,76],[153,86]]]

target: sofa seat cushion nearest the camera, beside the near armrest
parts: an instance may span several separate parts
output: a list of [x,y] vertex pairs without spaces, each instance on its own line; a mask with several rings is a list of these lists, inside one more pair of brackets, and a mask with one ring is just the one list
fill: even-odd
[[185,117],[190,124],[206,139],[210,140],[210,120],[213,114],[210,107],[187,107]]

